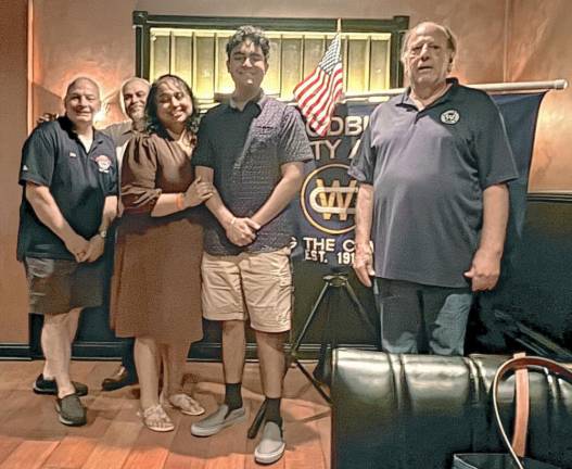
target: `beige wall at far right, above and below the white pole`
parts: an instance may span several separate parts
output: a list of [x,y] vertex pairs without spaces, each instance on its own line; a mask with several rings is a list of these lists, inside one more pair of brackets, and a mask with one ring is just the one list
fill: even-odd
[[529,191],[572,192],[572,4],[570,0],[512,0],[509,81],[567,78],[570,87],[544,99]]

